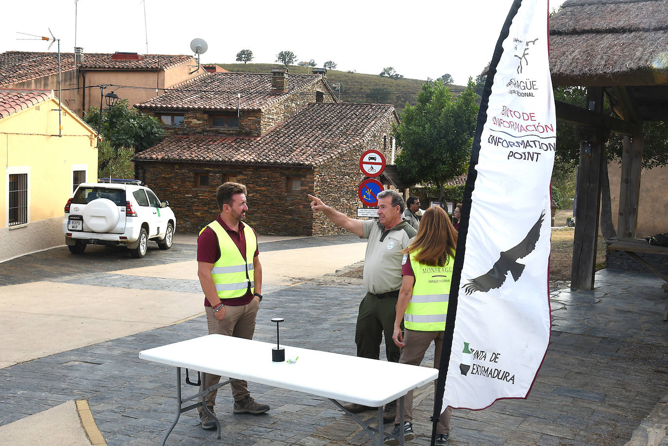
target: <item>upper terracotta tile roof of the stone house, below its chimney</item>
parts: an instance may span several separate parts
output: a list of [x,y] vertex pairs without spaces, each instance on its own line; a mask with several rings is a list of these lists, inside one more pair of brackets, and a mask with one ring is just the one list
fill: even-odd
[[271,74],[212,73],[200,76],[148,99],[138,108],[158,110],[236,110],[241,93],[241,110],[261,110],[291,94],[315,84],[319,74],[291,74],[285,93],[271,93]]

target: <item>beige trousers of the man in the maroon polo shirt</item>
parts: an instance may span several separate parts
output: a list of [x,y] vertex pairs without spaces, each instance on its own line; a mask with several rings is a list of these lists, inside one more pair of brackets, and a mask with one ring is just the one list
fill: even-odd
[[[260,302],[258,302],[257,298],[253,298],[253,300],[246,305],[226,306],[225,316],[220,322],[218,322],[218,319],[214,316],[211,307],[204,307],[209,334],[224,334],[225,336],[234,336],[235,338],[253,339],[253,333],[255,332],[255,317],[257,316],[259,307]],[[211,352],[211,354],[225,354],[225,352]],[[230,360],[238,359],[239,358],[230,358]],[[220,382],[220,376],[207,373],[206,380],[204,380],[204,386],[213,386],[218,384],[218,382]],[[248,382],[246,381],[233,379],[232,382],[230,382],[230,387],[232,388],[232,397],[234,397],[234,401],[241,401],[248,395],[251,395],[251,393],[248,392]],[[208,407],[213,407],[216,404],[216,395],[218,395],[218,389],[209,392],[204,397],[204,401]]]

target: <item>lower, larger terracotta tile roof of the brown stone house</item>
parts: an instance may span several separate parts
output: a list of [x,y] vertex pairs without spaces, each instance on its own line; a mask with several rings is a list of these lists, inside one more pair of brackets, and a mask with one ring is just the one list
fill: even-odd
[[170,136],[135,159],[318,166],[364,144],[385,120],[396,120],[391,105],[315,103],[263,136]]

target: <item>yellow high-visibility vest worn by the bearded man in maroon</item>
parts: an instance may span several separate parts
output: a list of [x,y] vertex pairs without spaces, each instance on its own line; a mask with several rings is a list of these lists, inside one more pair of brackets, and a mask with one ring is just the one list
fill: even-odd
[[[211,277],[216,286],[218,298],[220,300],[240,298],[246,294],[249,283],[251,284],[251,293],[255,292],[253,256],[257,249],[257,237],[255,237],[253,229],[244,225],[243,231],[246,239],[246,260],[244,260],[234,241],[218,221],[212,221],[202,228],[202,231],[207,227],[211,228],[216,234],[220,249],[220,258],[216,260],[211,268]],[[202,231],[200,231],[200,234]]]

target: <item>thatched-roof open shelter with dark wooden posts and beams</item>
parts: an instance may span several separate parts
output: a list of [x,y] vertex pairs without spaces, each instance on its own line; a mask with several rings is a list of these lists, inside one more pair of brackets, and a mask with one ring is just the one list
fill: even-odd
[[[610,132],[625,135],[617,231],[620,239],[635,238],[643,149],[635,136],[644,121],[668,120],[667,11],[668,0],[568,0],[550,18],[552,84],[587,87],[587,108],[555,103],[557,119],[578,124],[582,140],[572,288],[594,286]],[[603,112],[604,97],[617,116]]]

